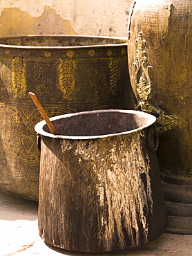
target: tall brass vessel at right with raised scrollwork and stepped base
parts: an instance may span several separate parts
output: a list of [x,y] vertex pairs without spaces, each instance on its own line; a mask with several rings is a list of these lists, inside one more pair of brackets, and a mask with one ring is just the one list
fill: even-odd
[[128,64],[137,109],[157,117],[169,232],[192,234],[192,1],[133,1]]

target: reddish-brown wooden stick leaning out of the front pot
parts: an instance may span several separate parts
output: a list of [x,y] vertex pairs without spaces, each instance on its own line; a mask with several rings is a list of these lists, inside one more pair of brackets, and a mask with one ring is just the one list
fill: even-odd
[[52,122],[50,122],[50,119],[48,118],[46,112],[44,111],[43,107],[41,106],[41,103],[39,102],[39,100],[35,96],[35,93],[29,92],[28,94],[30,95],[30,98],[32,98],[32,101],[35,103],[35,106],[37,107],[37,109],[41,113],[42,118],[44,118],[44,120],[46,121],[46,124],[48,125],[48,128],[50,129],[52,134],[57,135],[58,134],[57,130],[55,129],[54,125],[52,125]]

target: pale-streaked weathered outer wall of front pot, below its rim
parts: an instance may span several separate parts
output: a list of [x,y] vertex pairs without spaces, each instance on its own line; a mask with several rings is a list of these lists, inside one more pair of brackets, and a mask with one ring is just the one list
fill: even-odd
[[96,252],[148,241],[153,193],[141,138],[43,137],[39,232],[48,244]]

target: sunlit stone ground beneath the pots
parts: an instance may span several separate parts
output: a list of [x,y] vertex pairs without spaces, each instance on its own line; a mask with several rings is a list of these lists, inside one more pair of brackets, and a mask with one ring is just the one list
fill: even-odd
[[39,237],[37,203],[0,192],[0,256],[192,256],[192,235],[164,233],[145,246],[117,253],[74,253],[53,250]]

